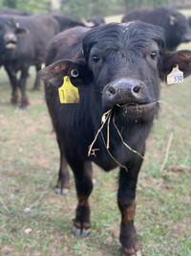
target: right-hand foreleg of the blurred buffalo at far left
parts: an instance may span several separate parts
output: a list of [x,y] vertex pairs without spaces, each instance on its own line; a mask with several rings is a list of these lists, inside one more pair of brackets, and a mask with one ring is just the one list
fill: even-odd
[[24,67],[21,71],[21,77],[19,81],[19,88],[21,91],[21,107],[25,108],[30,105],[29,98],[26,94],[26,82],[28,78],[29,67]]

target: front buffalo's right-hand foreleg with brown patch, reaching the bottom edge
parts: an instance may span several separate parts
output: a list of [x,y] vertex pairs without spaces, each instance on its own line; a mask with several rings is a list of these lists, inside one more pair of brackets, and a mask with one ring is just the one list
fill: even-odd
[[[138,161],[139,160],[139,161]],[[141,159],[138,159],[133,167],[128,165],[128,171],[121,168],[119,174],[119,186],[117,193],[118,208],[121,213],[119,241],[122,244],[124,255],[141,255],[138,235],[134,226],[136,214],[136,186]]]

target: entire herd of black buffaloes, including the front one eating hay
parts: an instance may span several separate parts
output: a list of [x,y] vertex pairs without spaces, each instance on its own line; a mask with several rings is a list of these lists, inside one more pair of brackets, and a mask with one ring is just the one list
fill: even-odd
[[160,81],[176,65],[184,77],[191,75],[191,51],[176,50],[191,40],[189,33],[186,18],[169,8],[134,10],[121,23],[101,25],[54,14],[0,14],[0,64],[11,81],[11,103],[18,102],[19,88],[21,106],[29,105],[31,65],[34,88],[44,81],[60,151],[61,194],[70,188],[68,165],[74,173],[74,236],[91,230],[92,162],[105,172],[119,167],[119,242],[124,255],[141,255],[134,225],[138,172],[159,113]]

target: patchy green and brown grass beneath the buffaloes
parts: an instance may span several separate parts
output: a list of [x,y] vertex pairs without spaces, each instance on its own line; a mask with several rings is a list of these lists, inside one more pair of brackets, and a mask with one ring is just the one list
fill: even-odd
[[[31,106],[22,110],[10,104],[11,86],[0,70],[1,255],[119,255],[117,171],[105,174],[95,166],[92,233],[84,240],[74,238],[74,178],[71,175],[69,196],[54,195],[59,153],[43,88],[31,91],[33,69],[30,73]],[[190,78],[161,86],[159,119],[147,141],[138,179],[136,225],[144,255],[191,255],[190,97]],[[161,172],[170,134],[172,143]]]

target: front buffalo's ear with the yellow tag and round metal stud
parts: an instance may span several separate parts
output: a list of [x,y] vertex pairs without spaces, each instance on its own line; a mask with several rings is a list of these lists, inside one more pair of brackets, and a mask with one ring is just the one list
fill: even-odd
[[56,87],[63,83],[63,78],[68,76],[74,86],[84,85],[92,79],[92,73],[85,61],[61,59],[43,68],[38,72],[41,80]]

